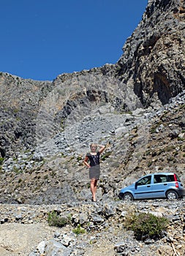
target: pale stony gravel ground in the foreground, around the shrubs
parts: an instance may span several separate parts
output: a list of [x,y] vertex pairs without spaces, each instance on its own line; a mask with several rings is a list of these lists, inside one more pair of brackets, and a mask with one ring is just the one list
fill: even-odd
[[[65,255],[85,256],[151,256],[178,255],[185,253],[183,200],[143,200],[126,203],[110,201],[99,203],[76,203],[69,205],[10,205],[0,204],[0,255],[1,256],[53,256],[55,246],[50,252],[39,253],[41,242],[57,241],[71,252]],[[106,213],[109,214],[106,216]],[[159,241],[149,239],[137,241],[130,230],[124,229],[124,214],[137,208],[138,211],[152,212],[171,219],[167,234]],[[48,212],[57,210],[72,214],[73,223],[64,227],[48,225]],[[103,214],[104,213],[104,214]],[[92,230],[76,235],[72,232],[79,220],[87,227],[94,219],[102,218]],[[67,241],[69,239],[69,244]],[[65,241],[64,241],[65,240]],[[116,248],[122,252],[116,252]]]

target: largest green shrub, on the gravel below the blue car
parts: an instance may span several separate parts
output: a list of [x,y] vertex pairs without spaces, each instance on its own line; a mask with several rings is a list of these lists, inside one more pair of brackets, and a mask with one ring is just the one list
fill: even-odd
[[135,233],[137,240],[146,238],[161,238],[162,231],[166,230],[168,219],[165,217],[156,217],[149,213],[128,214],[125,221],[125,227]]

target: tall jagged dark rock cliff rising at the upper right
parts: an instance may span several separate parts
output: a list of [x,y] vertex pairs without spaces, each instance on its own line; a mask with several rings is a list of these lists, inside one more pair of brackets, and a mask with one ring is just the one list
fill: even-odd
[[[185,1],[148,1],[143,19],[124,45],[117,76],[143,105],[169,102],[185,86]],[[157,103],[157,104],[156,104]]]

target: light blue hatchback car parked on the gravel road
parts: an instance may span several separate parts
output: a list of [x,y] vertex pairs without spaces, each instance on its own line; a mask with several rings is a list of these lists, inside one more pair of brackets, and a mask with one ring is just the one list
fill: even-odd
[[184,187],[175,173],[152,173],[143,176],[129,187],[121,189],[121,200],[149,198],[167,198],[170,200],[183,197]]

